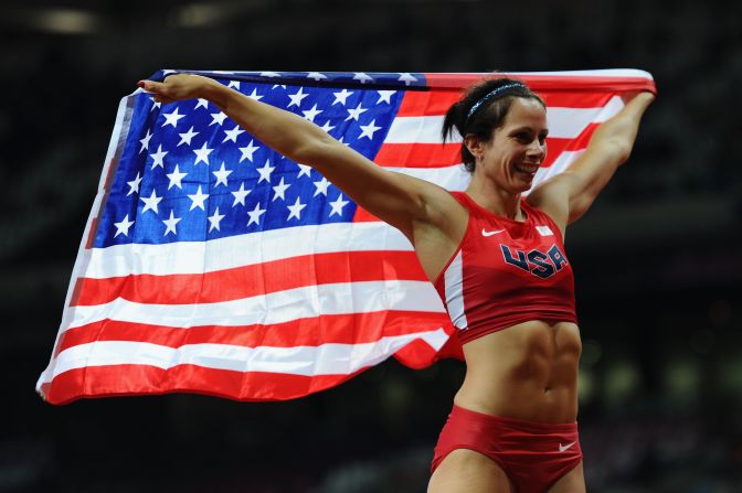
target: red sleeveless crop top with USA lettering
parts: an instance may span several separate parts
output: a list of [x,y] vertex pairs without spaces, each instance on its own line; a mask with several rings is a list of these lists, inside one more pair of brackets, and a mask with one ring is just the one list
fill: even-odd
[[521,201],[523,223],[498,216],[466,193],[462,244],[435,280],[462,343],[530,320],[576,323],[574,274],[556,224]]

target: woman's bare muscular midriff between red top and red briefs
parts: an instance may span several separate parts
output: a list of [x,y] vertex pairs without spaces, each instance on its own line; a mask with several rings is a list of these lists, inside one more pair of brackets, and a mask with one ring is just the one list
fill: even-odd
[[571,322],[534,320],[470,341],[454,403],[492,416],[574,422],[581,351],[580,330]]

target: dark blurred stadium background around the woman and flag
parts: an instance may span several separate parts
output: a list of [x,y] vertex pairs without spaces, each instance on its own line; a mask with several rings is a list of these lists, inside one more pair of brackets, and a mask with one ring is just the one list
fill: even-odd
[[591,492],[742,492],[740,2],[6,0],[0,491],[423,492],[463,366],[288,403],[34,394],[118,100],[159,68],[643,68],[658,100],[574,225]]

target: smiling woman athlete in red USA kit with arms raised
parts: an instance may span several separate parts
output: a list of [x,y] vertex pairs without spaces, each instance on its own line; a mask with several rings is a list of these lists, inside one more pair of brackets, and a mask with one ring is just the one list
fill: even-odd
[[533,190],[547,153],[544,103],[524,84],[486,81],[447,112],[471,172],[465,193],[375,165],[319,127],[212,79],[173,75],[140,87],[162,103],[204,98],[254,137],[319,171],[400,229],[454,324],[467,373],[435,450],[430,492],[580,492],[580,332],[566,225],[634,144],[654,99],[642,93],[594,133],[570,169]]

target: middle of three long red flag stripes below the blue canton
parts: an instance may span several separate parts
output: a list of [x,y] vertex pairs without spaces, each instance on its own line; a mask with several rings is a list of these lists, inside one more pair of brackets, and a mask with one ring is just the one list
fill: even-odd
[[319,346],[321,344],[363,344],[382,336],[427,332],[449,325],[445,313],[379,311],[320,315],[271,325],[201,325],[173,328],[145,323],[102,320],[70,329],[60,337],[56,354],[70,347],[97,341],[130,341],[180,347],[187,344],[230,344],[243,347]]

